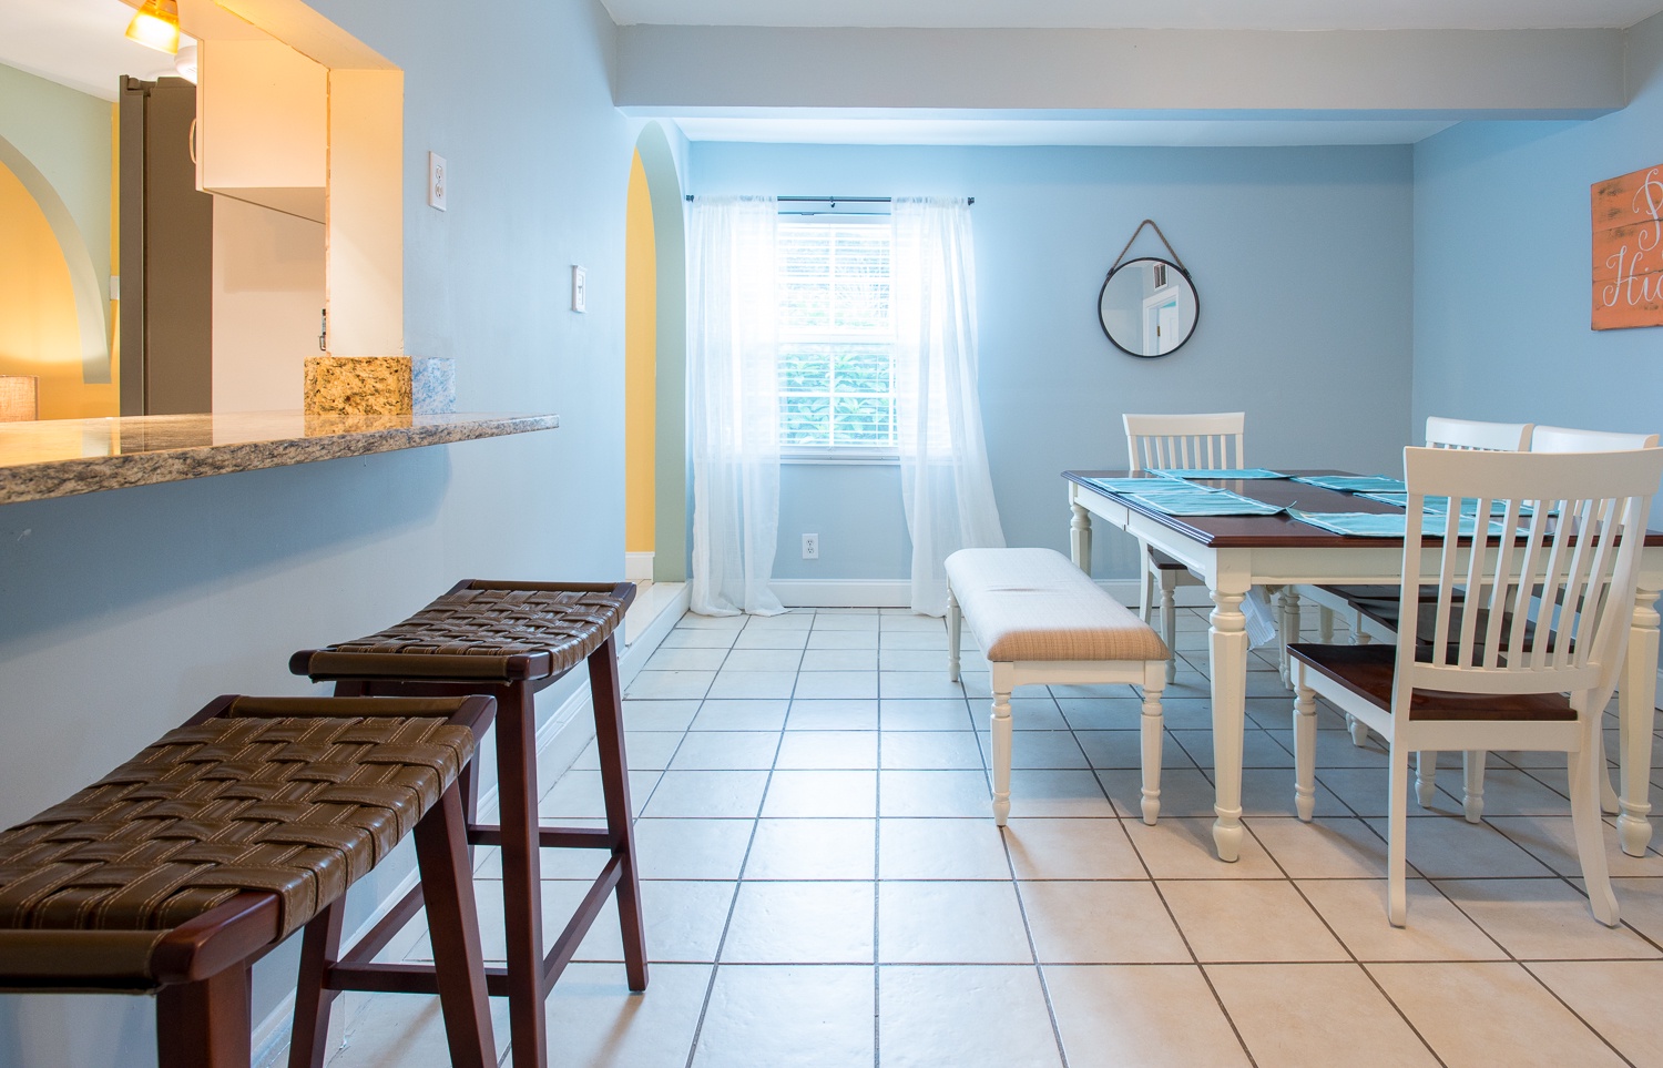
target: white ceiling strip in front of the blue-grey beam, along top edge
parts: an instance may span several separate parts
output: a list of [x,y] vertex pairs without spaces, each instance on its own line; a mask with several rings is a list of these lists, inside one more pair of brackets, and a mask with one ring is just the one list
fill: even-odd
[[600,0],[619,25],[1101,30],[1626,28],[1663,0]]

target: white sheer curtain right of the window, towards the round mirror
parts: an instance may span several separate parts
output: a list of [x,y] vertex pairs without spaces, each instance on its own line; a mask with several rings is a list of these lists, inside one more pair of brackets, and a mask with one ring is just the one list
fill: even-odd
[[976,251],[963,200],[893,203],[891,314],[901,501],[913,539],[915,612],[946,612],[943,561],[999,547],[976,396]]

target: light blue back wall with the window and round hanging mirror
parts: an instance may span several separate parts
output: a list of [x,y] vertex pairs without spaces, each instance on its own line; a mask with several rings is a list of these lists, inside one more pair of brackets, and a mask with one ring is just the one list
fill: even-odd
[[[1410,398],[1410,150],[693,143],[693,193],[975,196],[981,404],[1013,546],[1068,547],[1061,471],[1126,466],[1128,411],[1247,411],[1254,464],[1395,471]],[[1098,289],[1142,218],[1201,293],[1194,339],[1114,349]],[[1146,230],[1134,253],[1164,255]],[[822,536],[820,561],[800,534]],[[1104,544],[1109,542],[1109,544]],[[1134,549],[1101,539],[1099,577]],[[903,579],[893,467],[787,466],[778,579]]]

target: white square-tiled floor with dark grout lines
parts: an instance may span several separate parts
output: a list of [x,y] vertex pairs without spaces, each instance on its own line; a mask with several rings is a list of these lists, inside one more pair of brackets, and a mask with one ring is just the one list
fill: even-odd
[[[1317,820],[1294,820],[1290,697],[1256,654],[1249,835],[1217,862],[1206,625],[1184,611],[1161,823],[1137,820],[1133,692],[1028,687],[1001,833],[984,662],[948,682],[941,621],[685,617],[625,705],[652,983],[629,995],[605,913],[549,1000],[550,1063],[1663,1065],[1663,857],[1623,857],[1608,828],[1625,925],[1595,923],[1552,757],[1493,754],[1480,827],[1452,794],[1412,807],[1394,930],[1384,752],[1324,709]],[[599,817],[594,767],[590,749],[544,815]],[[544,863],[569,905],[590,862]],[[479,890],[489,923],[499,887]],[[336,1068],[444,1063],[432,1000],[349,1011]]]

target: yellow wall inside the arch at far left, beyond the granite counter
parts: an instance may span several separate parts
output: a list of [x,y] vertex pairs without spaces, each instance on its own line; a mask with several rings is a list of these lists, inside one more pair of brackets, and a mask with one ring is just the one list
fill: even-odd
[[81,383],[70,265],[35,198],[0,165],[0,374],[40,378],[42,419],[113,416],[115,384]]

